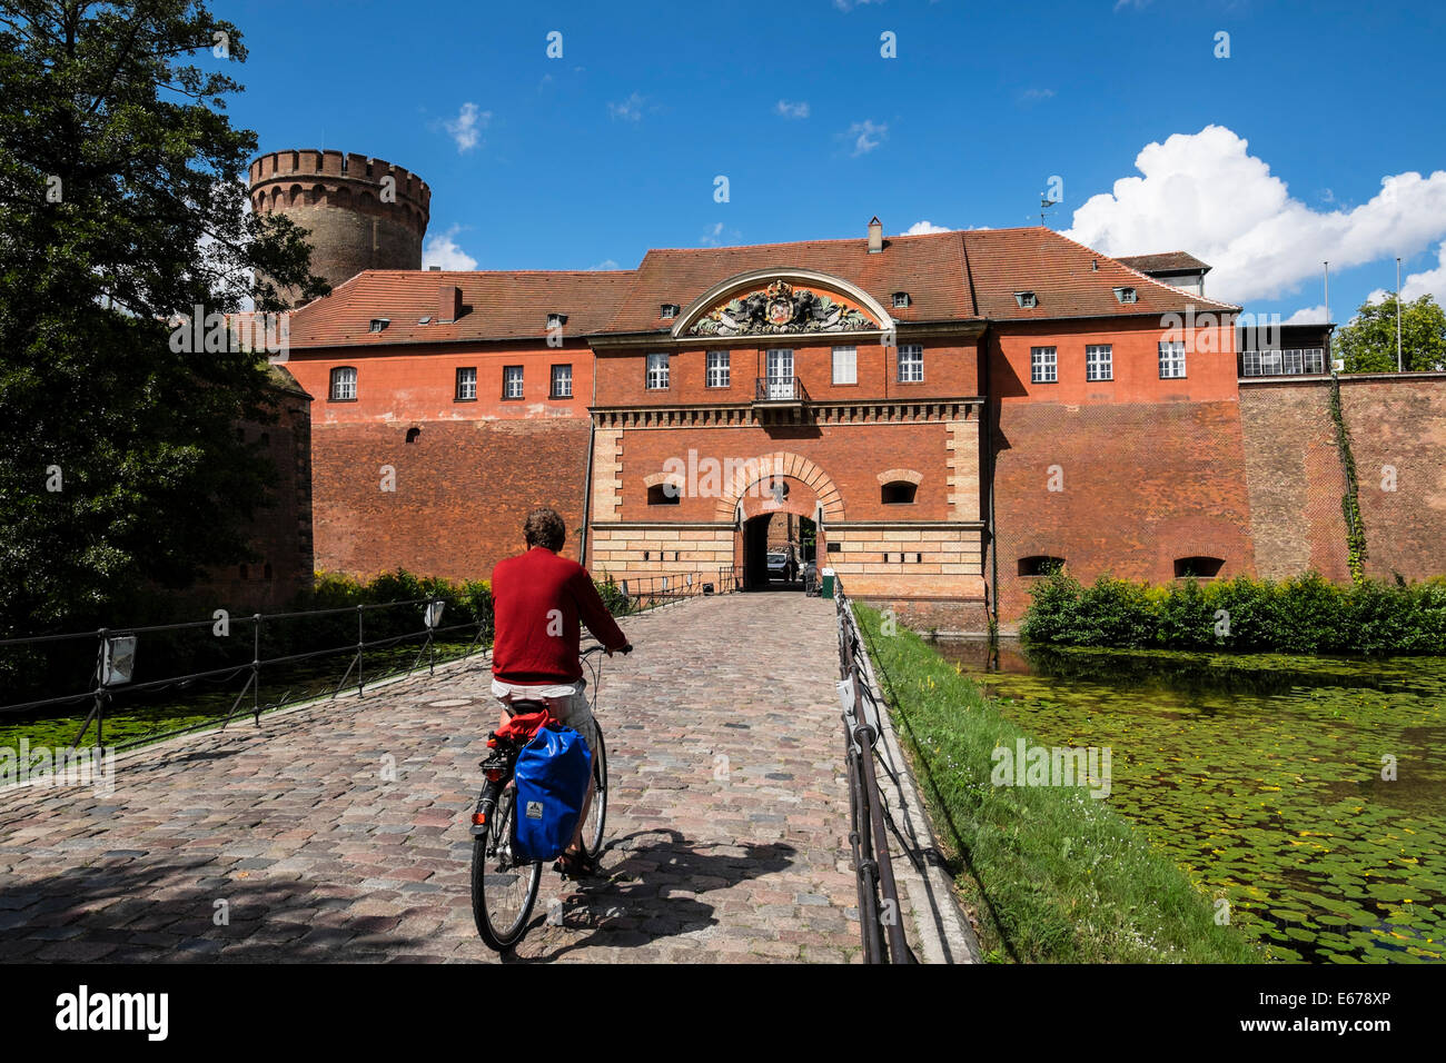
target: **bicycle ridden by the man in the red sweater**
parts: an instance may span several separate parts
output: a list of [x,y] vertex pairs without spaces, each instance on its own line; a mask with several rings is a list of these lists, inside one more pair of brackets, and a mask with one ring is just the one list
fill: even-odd
[[[628,654],[632,646],[620,651]],[[590,709],[597,726],[597,694],[602,688],[603,646],[589,646],[578,659],[591,673],[593,696]],[[508,706],[508,714],[536,713],[547,709],[542,701],[515,700]],[[516,947],[528,931],[528,918],[538,898],[542,882],[542,862],[516,859],[516,785],[513,771],[518,755],[528,740],[508,740],[489,736],[493,752],[480,762],[486,782],[471,814],[471,914],[477,923],[482,940],[496,952]],[[597,859],[603,850],[603,830],[607,826],[607,745],[603,729],[597,726],[597,748],[593,755],[593,803],[583,820],[583,850],[590,859]]]

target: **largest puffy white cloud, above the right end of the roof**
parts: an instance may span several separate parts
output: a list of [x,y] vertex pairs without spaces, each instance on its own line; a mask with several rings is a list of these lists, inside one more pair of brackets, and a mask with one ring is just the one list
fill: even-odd
[[1277,298],[1330,268],[1416,255],[1446,236],[1446,171],[1381,179],[1351,210],[1316,211],[1223,126],[1176,133],[1135,158],[1144,176],[1090,197],[1066,236],[1106,255],[1187,250],[1212,266],[1223,299]]

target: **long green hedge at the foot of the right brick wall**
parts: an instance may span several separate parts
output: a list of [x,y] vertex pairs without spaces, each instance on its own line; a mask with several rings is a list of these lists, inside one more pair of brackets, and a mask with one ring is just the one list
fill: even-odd
[[1319,573],[1280,583],[1236,576],[1150,587],[1054,571],[1031,590],[1031,642],[1139,649],[1446,655],[1446,577],[1338,586]]

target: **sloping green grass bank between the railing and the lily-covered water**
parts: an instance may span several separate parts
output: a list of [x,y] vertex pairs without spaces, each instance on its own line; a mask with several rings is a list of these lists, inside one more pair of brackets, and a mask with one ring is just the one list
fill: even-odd
[[1079,787],[991,784],[996,746],[1032,739],[912,632],[881,636],[856,606],[956,882],[992,959],[1249,963],[1209,897],[1128,820]]

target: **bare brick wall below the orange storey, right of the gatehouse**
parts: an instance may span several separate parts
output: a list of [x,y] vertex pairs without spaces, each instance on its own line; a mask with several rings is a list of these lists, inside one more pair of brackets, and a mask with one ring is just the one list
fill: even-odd
[[[1223,558],[1226,579],[1254,571],[1239,404],[1005,402],[1001,417],[1002,623],[1030,603],[1021,557],[1063,557],[1084,583],[1106,571],[1164,583],[1176,558],[1196,555]],[[1048,489],[1053,466],[1063,490]]]

